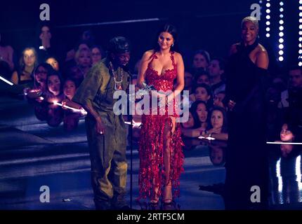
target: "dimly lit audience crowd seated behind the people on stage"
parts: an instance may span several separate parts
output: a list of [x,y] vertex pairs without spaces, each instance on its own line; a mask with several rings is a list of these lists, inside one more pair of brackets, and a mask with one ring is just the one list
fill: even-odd
[[[52,43],[51,25],[41,25],[39,31],[39,44],[22,50],[18,62],[13,47],[0,42],[1,76],[24,86],[26,99],[39,120],[46,120],[52,127],[63,123],[65,130],[74,130],[85,111],[72,102],[72,97],[91,66],[106,56],[105,51],[96,44],[91,31],[84,31],[77,45],[65,52]],[[228,139],[224,75],[227,59],[213,56],[206,50],[196,50],[185,66],[184,90],[190,92],[190,112],[188,121],[181,123],[183,137],[209,137],[215,133],[216,139]],[[138,73],[139,63],[132,69],[134,74]],[[267,80],[268,140],[301,141],[301,67],[291,66],[287,73],[270,73]],[[74,110],[67,109],[67,104]],[[139,120],[135,116],[137,123]],[[138,125],[133,139],[139,139],[139,130]]]

